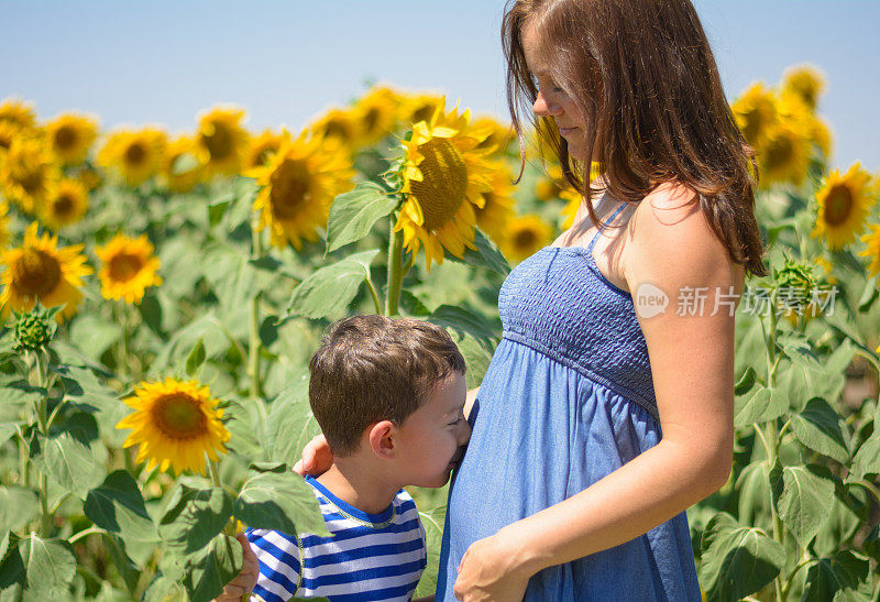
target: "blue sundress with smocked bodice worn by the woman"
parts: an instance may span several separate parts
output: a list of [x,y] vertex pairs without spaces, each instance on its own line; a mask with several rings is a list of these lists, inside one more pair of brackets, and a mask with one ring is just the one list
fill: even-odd
[[[662,437],[645,337],[630,295],[596,267],[598,236],[586,248],[541,249],[502,286],[504,335],[450,486],[438,601],[455,600],[473,541],[583,491]],[[700,601],[686,514],[538,572],[525,600]]]

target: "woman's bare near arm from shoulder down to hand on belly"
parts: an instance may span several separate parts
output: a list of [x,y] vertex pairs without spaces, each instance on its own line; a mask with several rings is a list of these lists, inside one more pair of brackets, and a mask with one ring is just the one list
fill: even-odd
[[[733,457],[734,318],[714,316],[716,288],[741,291],[741,271],[698,206],[639,206],[629,223],[626,280],[669,297],[666,311],[639,317],[654,383],[661,441],[572,497],[508,525],[465,552],[457,595],[521,598],[528,578],[628,541],[721,488]],[[678,203],[669,207],[678,207]],[[684,288],[689,287],[689,288]],[[679,315],[679,292],[706,288],[704,311]],[[521,588],[521,590],[519,589]],[[479,598],[474,598],[479,599]]]

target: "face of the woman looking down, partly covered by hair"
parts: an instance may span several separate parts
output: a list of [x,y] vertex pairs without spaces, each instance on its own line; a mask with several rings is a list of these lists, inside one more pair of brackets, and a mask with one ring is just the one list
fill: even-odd
[[585,161],[586,130],[583,119],[574,100],[553,81],[550,75],[550,61],[553,57],[541,51],[539,42],[538,28],[526,23],[522,28],[522,50],[539,90],[532,110],[538,117],[552,118],[560,135],[568,143],[569,155],[578,161]]

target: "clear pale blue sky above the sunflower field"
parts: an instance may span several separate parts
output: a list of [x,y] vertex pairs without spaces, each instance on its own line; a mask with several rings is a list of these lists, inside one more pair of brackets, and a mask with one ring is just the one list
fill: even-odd
[[[693,0],[728,99],[812,63],[833,164],[880,171],[880,2]],[[105,128],[195,128],[217,102],[252,129],[304,125],[367,79],[432,89],[505,116],[502,0],[0,0],[0,98],[41,118],[78,109]]]

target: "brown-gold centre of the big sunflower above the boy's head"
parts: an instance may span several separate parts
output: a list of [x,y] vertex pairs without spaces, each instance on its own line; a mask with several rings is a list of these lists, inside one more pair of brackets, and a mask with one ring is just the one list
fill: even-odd
[[425,216],[422,227],[435,230],[452,219],[468,191],[468,166],[449,140],[435,138],[419,144],[425,160],[419,169],[425,179],[410,183]]

